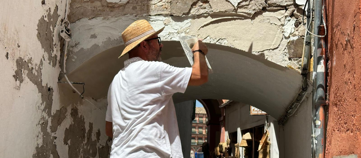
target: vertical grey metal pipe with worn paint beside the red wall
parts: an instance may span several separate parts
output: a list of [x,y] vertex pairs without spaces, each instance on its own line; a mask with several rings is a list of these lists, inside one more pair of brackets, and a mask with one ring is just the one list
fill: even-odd
[[[323,29],[322,22],[322,11],[323,1],[315,0],[315,12],[314,12],[314,32],[317,35],[325,35],[325,29]],[[325,39],[314,36],[314,49],[313,49],[313,126],[314,126],[314,140],[315,146],[315,157],[325,157]]]

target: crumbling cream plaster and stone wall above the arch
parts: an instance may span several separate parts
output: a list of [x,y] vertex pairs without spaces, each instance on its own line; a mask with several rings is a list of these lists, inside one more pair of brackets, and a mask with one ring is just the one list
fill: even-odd
[[[69,19],[69,72],[106,49],[122,45],[119,33],[138,19],[155,29],[165,26],[162,40],[194,35],[248,51],[300,70],[304,26],[303,1],[294,0],[72,0]],[[167,47],[167,46],[165,46]]]

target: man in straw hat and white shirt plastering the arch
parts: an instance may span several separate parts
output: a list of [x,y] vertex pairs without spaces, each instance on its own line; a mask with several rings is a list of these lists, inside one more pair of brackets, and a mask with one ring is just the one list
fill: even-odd
[[194,65],[178,68],[161,61],[163,45],[145,20],[132,23],[122,33],[129,54],[124,68],[108,91],[106,135],[113,138],[110,158],[183,158],[172,96],[188,85],[208,81],[205,55],[199,40],[192,48]]

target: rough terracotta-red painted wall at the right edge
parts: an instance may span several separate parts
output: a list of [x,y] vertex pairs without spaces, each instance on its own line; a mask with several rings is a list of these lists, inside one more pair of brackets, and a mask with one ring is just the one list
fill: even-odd
[[361,157],[361,0],[326,0],[329,119],[326,158]]

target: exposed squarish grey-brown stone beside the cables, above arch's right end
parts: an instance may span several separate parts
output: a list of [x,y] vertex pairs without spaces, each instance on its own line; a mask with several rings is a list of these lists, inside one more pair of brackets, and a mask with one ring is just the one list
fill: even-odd
[[304,38],[291,37],[287,44],[288,58],[302,58]]

